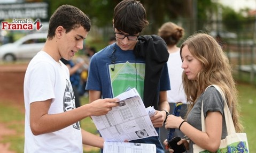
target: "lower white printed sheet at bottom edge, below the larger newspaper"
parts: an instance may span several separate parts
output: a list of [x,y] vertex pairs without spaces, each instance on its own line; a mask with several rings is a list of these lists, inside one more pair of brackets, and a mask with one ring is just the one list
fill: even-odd
[[104,142],[103,153],[156,153],[154,144],[127,143],[127,142]]

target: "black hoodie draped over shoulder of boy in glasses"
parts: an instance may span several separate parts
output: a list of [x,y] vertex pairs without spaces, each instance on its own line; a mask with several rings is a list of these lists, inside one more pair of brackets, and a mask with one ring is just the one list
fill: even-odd
[[162,69],[169,58],[167,45],[161,37],[157,35],[146,35],[138,37],[138,42],[134,49],[136,57],[145,59],[145,80],[144,80],[144,105],[154,106],[158,109],[159,91],[158,85]]

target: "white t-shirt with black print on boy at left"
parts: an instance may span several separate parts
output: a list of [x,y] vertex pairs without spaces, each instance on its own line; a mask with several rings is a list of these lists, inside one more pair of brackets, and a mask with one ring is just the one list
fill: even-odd
[[63,113],[75,108],[67,66],[62,62],[59,64],[46,52],[41,51],[30,61],[25,74],[24,152],[83,152],[79,122],[56,132],[40,135],[32,133],[29,125],[29,105],[47,99],[52,99],[49,114]]

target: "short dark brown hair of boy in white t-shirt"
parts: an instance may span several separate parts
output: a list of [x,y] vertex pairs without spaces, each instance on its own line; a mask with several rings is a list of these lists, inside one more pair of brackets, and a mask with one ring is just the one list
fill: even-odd
[[86,31],[90,31],[90,19],[79,8],[72,5],[61,5],[52,14],[49,22],[48,38],[55,36],[57,27],[63,26],[66,33],[82,26]]

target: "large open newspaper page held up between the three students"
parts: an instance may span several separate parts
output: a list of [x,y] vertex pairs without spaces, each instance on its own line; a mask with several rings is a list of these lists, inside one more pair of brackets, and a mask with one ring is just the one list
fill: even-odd
[[117,98],[120,99],[119,106],[113,107],[106,115],[91,116],[105,141],[123,142],[158,136],[135,88]]

